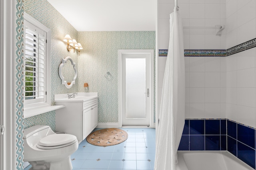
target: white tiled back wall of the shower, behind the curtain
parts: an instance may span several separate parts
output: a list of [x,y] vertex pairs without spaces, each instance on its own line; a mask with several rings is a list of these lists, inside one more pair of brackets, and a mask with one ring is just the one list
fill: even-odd
[[[225,0],[179,0],[184,27],[184,49],[226,49],[225,29],[216,36],[215,27],[226,25]],[[174,0],[158,0],[158,49],[168,49],[170,13]],[[185,57],[186,115],[193,118],[226,118],[225,57]],[[158,111],[166,57],[158,57]]]

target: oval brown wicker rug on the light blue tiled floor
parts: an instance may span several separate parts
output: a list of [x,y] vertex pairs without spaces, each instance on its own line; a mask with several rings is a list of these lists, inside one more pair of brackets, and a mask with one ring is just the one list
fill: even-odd
[[86,140],[96,146],[111,146],[124,142],[128,138],[126,131],[116,128],[100,129],[92,132]]

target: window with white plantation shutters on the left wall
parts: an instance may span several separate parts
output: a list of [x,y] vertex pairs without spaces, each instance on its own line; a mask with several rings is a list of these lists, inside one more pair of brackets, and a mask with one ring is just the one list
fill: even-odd
[[24,105],[49,102],[47,33],[24,18]]

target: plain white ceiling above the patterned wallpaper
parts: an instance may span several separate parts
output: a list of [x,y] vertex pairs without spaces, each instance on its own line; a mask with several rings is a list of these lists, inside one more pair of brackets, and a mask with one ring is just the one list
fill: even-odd
[[48,0],[77,31],[155,31],[156,0]]

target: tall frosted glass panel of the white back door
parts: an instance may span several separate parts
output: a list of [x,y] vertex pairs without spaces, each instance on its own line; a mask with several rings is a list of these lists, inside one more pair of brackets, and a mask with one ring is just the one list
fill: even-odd
[[126,58],[126,118],[146,118],[146,59]]

